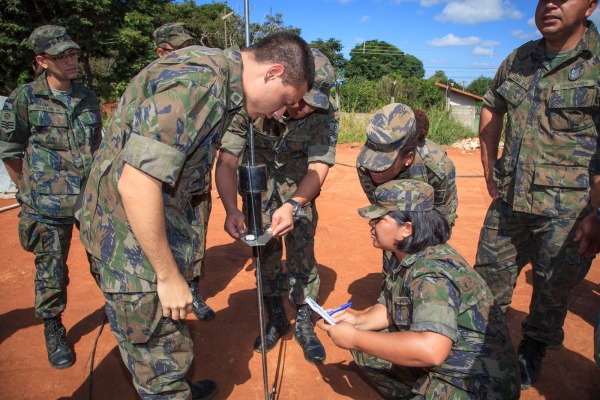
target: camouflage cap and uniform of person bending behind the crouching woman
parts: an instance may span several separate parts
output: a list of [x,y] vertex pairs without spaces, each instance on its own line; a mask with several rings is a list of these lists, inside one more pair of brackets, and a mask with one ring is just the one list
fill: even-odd
[[[399,108],[398,108],[399,107]],[[394,110],[397,111],[394,111]],[[396,133],[384,134],[384,125],[389,128],[393,119],[393,112],[400,112],[410,121],[410,128],[397,130]],[[378,116],[379,115],[379,116]],[[391,122],[390,122],[391,121]],[[380,126],[375,126],[379,124]],[[386,125],[387,124],[387,125]],[[399,125],[404,122],[399,122]],[[411,135],[416,134],[412,110],[403,105],[388,105],[376,114],[367,127],[367,142],[361,149],[356,160],[358,180],[371,203],[375,202],[375,189],[377,185],[371,179],[369,170],[382,171],[394,163],[398,151],[404,146]],[[409,125],[406,125],[409,126]],[[396,143],[394,145],[394,143]],[[391,146],[391,147],[390,147]],[[410,167],[401,171],[393,180],[416,179],[427,182],[434,188],[434,207],[450,224],[454,225],[457,218],[458,193],[456,190],[456,169],[454,163],[446,154],[446,150],[429,139],[421,140],[415,149],[415,156]],[[383,274],[391,271],[397,265],[397,259],[391,251],[383,252]]]

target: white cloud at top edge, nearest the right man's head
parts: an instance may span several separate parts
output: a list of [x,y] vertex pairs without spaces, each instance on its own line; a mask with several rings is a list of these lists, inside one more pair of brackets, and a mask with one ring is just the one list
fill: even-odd
[[450,0],[435,19],[456,24],[478,24],[522,17],[523,13],[508,0]]

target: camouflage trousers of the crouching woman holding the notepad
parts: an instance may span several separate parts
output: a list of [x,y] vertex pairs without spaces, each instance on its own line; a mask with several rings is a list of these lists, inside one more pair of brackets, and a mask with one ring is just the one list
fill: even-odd
[[401,367],[357,350],[351,350],[351,353],[361,372],[386,397],[415,400],[477,398],[475,393],[435,377],[424,368]]

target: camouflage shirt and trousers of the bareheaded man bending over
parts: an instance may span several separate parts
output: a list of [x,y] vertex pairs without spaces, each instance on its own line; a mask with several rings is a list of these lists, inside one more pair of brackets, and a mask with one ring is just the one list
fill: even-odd
[[94,258],[111,329],[142,398],[189,398],[183,377],[193,350],[185,321],[162,318],[156,273],[117,189],[122,166],[163,182],[173,256],[186,280],[197,276],[198,204],[209,190],[206,177],[225,127],[243,105],[241,67],[237,50],[192,46],[144,68],[119,101],[86,186],[81,240]]

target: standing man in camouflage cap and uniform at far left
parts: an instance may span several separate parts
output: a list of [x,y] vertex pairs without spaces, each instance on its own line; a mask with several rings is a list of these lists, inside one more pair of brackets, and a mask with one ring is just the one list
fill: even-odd
[[45,25],[29,41],[43,73],[15,89],[1,115],[0,157],[17,184],[19,239],[35,254],[35,315],[44,320],[48,361],[73,365],[61,314],[67,304],[74,207],[102,140],[96,95],[75,82],[79,46]]

